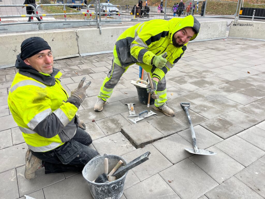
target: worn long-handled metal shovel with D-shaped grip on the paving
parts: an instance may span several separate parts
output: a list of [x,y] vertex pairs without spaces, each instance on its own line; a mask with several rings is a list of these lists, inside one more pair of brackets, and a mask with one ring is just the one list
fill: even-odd
[[[183,105],[188,105],[188,106],[183,106]],[[193,142],[193,148],[194,149],[188,149],[185,148],[185,150],[189,153],[194,153],[194,154],[199,154],[199,155],[216,155],[217,153],[209,151],[207,149],[198,149],[197,142],[196,142],[196,137],[195,137],[195,131],[191,123],[191,117],[189,116],[189,107],[191,103],[189,102],[180,102],[180,106],[185,110],[188,120],[189,120],[189,127],[191,128],[191,137],[192,137],[192,142]]]

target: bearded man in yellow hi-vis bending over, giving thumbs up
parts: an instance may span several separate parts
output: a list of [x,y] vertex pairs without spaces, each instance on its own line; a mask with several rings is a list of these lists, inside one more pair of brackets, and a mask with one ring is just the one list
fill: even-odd
[[154,102],[154,110],[174,116],[174,111],[166,104],[165,75],[182,57],[187,43],[195,39],[199,29],[198,20],[189,15],[169,21],[146,21],[124,31],[114,46],[112,67],[100,88],[94,110],[103,110],[122,74],[136,63],[153,77],[154,89],[149,85],[148,92],[159,96]]

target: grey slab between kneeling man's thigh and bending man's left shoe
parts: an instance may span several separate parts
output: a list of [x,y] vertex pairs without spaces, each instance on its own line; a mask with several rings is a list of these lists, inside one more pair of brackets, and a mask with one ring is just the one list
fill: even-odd
[[94,108],[77,111],[76,113],[85,124],[92,122],[92,120],[100,120],[106,118],[106,115],[102,111],[94,111]]

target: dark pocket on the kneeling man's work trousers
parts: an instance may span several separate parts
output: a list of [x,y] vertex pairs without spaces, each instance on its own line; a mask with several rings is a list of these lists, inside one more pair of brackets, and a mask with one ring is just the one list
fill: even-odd
[[60,146],[58,149],[55,149],[55,154],[60,159],[60,161],[67,165],[70,163],[74,158],[77,157],[82,151],[80,146],[76,144],[74,140],[70,140],[63,146]]

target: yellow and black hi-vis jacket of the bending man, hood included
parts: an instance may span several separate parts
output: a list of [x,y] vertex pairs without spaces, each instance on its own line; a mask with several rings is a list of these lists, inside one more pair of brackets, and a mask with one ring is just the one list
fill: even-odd
[[[187,27],[195,30],[191,41],[195,39],[200,30],[199,21],[192,15],[183,19],[173,18],[169,21],[154,19],[128,28],[116,41],[116,52],[121,66],[125,68],[136,63],[145,71],[151,72],[153,77],[161,80],[187,49],[187,44],[183,47],[175,47],[172,42],[174,33]],[[152,58],[164,52],[167,52],[165,67],[159,69],[152,66]]]

